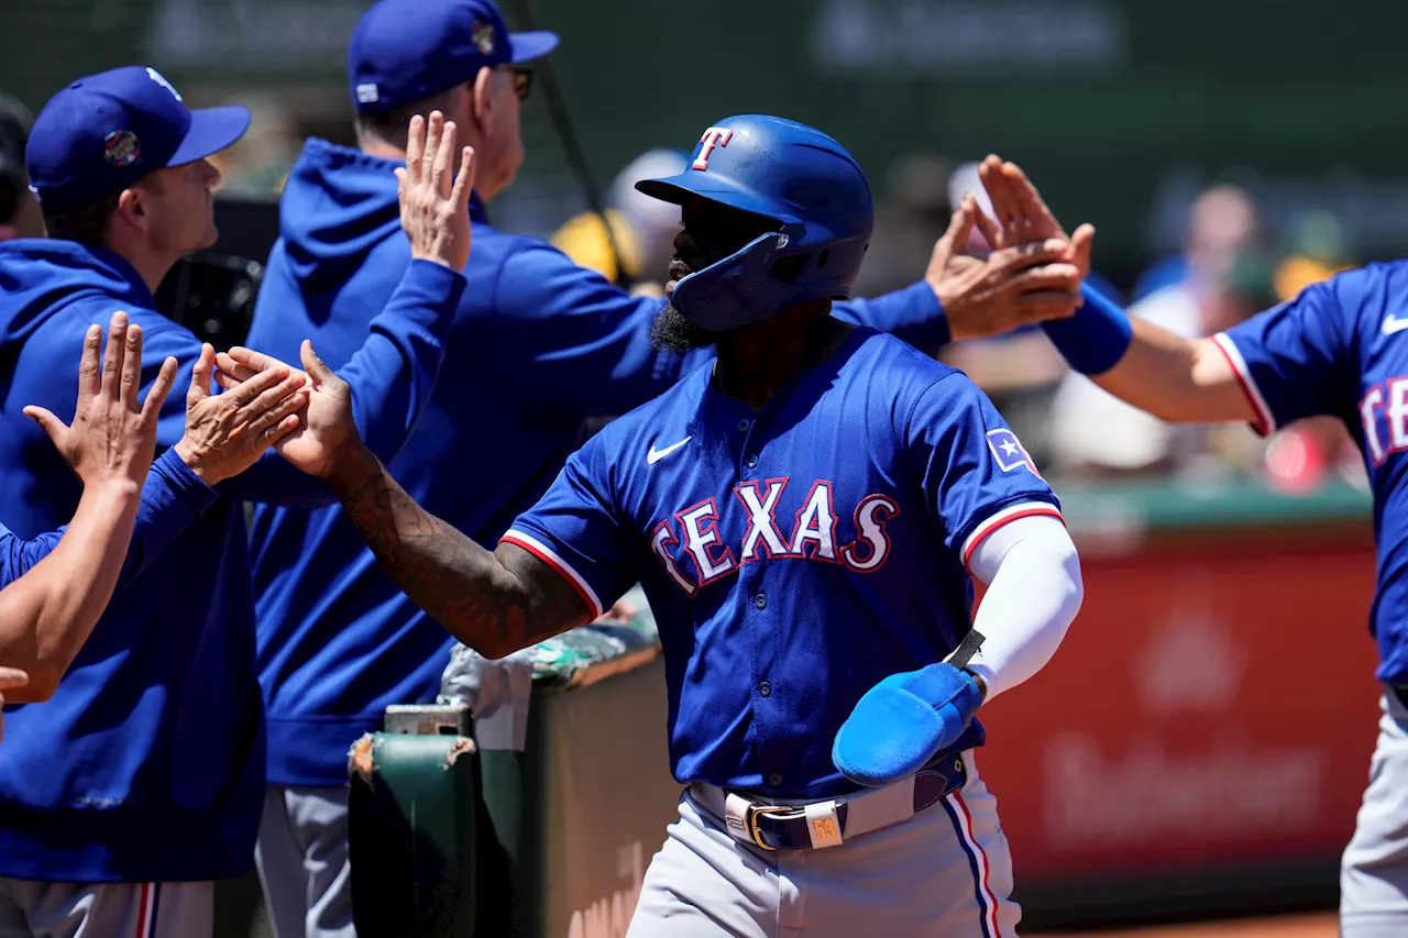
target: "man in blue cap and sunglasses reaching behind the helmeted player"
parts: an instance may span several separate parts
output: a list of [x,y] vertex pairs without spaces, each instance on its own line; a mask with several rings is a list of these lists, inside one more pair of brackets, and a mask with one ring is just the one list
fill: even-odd
[[[659,299],[631,296],[551,244],[493,224],[491,206],[524,161],[528,69],[556,45],[551,32],[510,32],[491,0],[373,4],[348,48],[358,146],[304,146],[280,197],[280,238],[248,338],[289,362],[311,338],[334,368],[362,345],[408,263],[391,180],[408,162],[408,115],[452,117],[479,165],[469,287],[429,406],[389,468],[427,508],[486,544],[542,496],[587,421],[650,400],[712,355],[652,348]],[[1019,251],[977,262],[950,251],[953,241],[941,242],[922,279],[832,314],[934,351],[1004,317],[1074,311],[1070,265]],[[1046,258],[1063,252],[1057,242]],[[377,568],[339,506],[256,506],[252,518],[269,717],[256,862],[279,938],[349,938],[348,746],[382,727],[389,704],[434,701],[453,641]],[[479,875],[500,868],[482,863]],[[507,884],[482,879],[480,889]]]

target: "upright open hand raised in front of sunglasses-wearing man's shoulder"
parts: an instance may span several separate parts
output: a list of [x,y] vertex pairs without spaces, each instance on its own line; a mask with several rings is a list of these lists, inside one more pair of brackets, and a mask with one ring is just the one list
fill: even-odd
[[469,193],[474,186],[474,148],[460,152],[459,172],[451,185],[455,162],[455,121],[431,111],[429,127],[420,114],[411,118],[406,166],[396,169],[401,228],[411,239],[411,256],[455,270],[469,262]]

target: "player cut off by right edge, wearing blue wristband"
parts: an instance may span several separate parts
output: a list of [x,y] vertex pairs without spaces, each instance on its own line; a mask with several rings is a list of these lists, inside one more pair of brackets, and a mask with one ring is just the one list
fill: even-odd
[[[990,156],[983,182],[1004,234],[1060,234],[1019,168]],[[1045,223],[1036,224],[1045,218]],[[1014,225],[1014,220],[1021,220]],[[990,223],[981,223],[991,227]],[[1094,231],[1081,225],[1071,258],[1088,269]],[[1340,934],[1408,934],[1408,262],[1371,263],[1307,287],[1211,338],[1187,339],[1086,303],[1046,325],[1070,366],[1111,394],[1171,423],[1243,421],[1267,435],[1302,417],[1345,423],[1374,493],[1378,589],[1370,631],[1384,684],[1378,742],[1354,835],[1340,865]]]

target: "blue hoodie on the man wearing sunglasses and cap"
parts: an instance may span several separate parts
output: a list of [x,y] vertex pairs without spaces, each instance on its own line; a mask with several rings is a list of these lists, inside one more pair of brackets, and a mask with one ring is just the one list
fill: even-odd
[[[345,361],[406,268],[397,230],[401,163],[310,139],[280,203],[249,345],[287,356],[311,335]],[[420,425],[389,469],[428,511],[494,544],[584,439],[584,423],[624,414],[674,384],[680,356],[650,346],[659,300],[635,299],[536,238],[490,227],[470,203],[473,248],[446,366]],[[948,338],[925,283],[836,315],[936,348]],[[452,645],[376,563],[339,506],[256,507],[251,555],[269,780],[346,783],[346,753],[387,704],[429,701]]]

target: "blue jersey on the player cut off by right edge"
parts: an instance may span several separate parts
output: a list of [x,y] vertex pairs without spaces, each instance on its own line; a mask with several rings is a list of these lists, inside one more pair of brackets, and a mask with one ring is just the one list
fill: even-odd
[[1215,338],[1266,435],[1338,417],[1374,493],[1378,586],[1370,630],[1380,680],[1408,686],[1408,262],[1371,263],[1307,287]]

